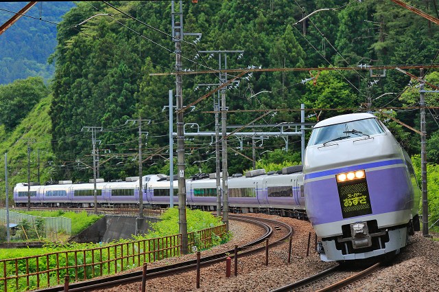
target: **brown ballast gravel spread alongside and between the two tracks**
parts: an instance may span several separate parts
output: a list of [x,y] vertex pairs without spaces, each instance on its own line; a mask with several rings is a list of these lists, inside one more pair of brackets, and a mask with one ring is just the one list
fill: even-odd
[[[314,233],[311,224],[293,218],[270,216],[265,214],[248,214],[275,219],[288,223],[294,229],[292,258],[288,264],[288,241],[269,250],[269,264],[265,266],[265,251],[253,256],[239,258],[237,276],[226,278],[226,261],[210,267],[201,267],[200,288],[196,289],[195,269],[174,273],[172,276],[148,279],[146,291],[271,291],[302,278],[312,276],[319,271],[329,269],[333,262],[322,262],[315,251]],[[224,245],[202,251],[201,256],[215,254],[221,250],[233,249],[235,245],[244,245],[259,238],[264,231],[249,223],[229,221],[233,239]],[[307,256],[308,236],[311,232],[311,246]],[[148,268],[170,265],[182,260],[195,258],[194,254],[169,258],[148,264]],[[424,238],[417,232],[411,236],[409,245],[385,267],[371,273],[342,291],[438,291],[439,290],[439,242]],[[331,283],[328,283],[331,284]],[[141,283],[119,285],[96,291],[140,291]]]

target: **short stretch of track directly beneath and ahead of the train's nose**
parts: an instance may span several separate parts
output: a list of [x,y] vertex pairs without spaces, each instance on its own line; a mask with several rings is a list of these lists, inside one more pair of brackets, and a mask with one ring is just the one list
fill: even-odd
[[[292,284],[285,285],[284,287],[280,287],[278,289],[274,289],[271,292],[287,292],[287,291],[336,291],[337,289],[341,289],[342,287],[351,284],[362,277],[376,271],[380,262],[376,263],[368,267],[367,269],[361,271],[346,271],[337,265],[335,267],[331,267],[330,269],[324,270],[316,275],[310,276],[308,278],[299,280],[298,282],[294,282]],[[331,283],[331,284],[328,284]]]

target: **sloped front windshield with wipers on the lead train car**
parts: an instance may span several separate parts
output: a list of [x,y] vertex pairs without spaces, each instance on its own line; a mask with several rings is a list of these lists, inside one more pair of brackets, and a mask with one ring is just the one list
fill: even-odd
[[308,146],[348,138],[368,137],[379,133],[384,133],[384,129],[374,118],[322,126],[314,128]]

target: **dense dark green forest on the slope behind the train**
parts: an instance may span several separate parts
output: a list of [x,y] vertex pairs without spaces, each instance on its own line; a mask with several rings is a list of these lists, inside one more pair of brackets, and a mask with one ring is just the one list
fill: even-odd
[[[126,121],[139,117],[151,120],[143,126],[143,131],[148,132],[147,139],[143,136],[144,173],[167,173],[169,169],[166,160],[169,157],[168,113],[167,109],[163,111],[163,106],[168,105],[168,91],[175,88],[175,77],[150,74],[175,69],[175,47],[170,36],[171,3],[111,3],[140,21],[115,13],[105,3],[80,2],[58,25],[58,46],[52,56],[56,60],[51,84],[53,98],[45,100],[50,104],[50,120],[42,125],[47,133],[46,143],[51,141],[51,146],[41,144],[47,146],[44,163],[47,170],[51,169],[51,172],[43,171],[46,179],[84,181],[93,176],[91,132],[84,126],[102,127],[102,131],[97,132],[100,177],[109,180],[137,175],[138,128],[137,124],[126,124]],[[435,5],[430,0],[410,3],[436,15]],[[320,11],[304,23],[296,23],[302,19],[304,11],[310,14],[322,8],[339,9]],[[115,15],[93,17],[76,26],[100,13]],[[257,122],[271,126],[257,128],[257,131],[278,131],[279,128],[272,125],[300,122],[298,109],[301,103],[308,109],[318,109],[307,111],[306,122],[365,111],[368,103],[372,111],[385,106],[418,106],[419,88],[416,81],[407,86],[409,76],[394,69],[388,69],[385,74],[383,71],[369,72],[360,69],[359,65],[437,63],[439,25],[390,1],[184,1],[183,17],[185,32],[202,33],[196,45],[195,36],[185,36],[182,68],[186,70],[219,67],[218,54],[211,56],[202,53],[203,50],[244,50],[242,56],[227,54],[227,67],[234,69],[249,66],[270,69],[351,67],[350,70],[265,71],[244,75],[239,86],[226,90],[230,111],[227,123],[247,124],[262,114],[241,110],[277,109]],[[221,62],[224,68],[224,54]],[[418,69],[407,71],[415,76],[420,74]],[[437,69],[426,69],[425,73],[429,82],[438,84]],[[233,76],[228,76],[230,78]],[[302,82],[306,78],[313,80]],[[213,86],[207,85],[217,83],[219,76],[185,75],[182,79],[184,103],[189,104],[211,90]],[[437,106],[437,93],[426,93],[425,98],[428,106]],[[185,113],[185,123],[197,123],[200,131],[214,131],[213,113],[206,113],[212,109],[213,98],[198,102],[194,111]],[[397,110],[389,114],[419,128],[418,110]],[[46,118],[44,114],[42,117]],[[385,115],[380,118],[410,155],[420,153],[418,134]],[[428,159],[437,164],[439,131],[435,119],[436,111],[429,109]],[[187,126],[186,131],[197,131],[198,126]],[[8,149],[26,132],[25,128],[12,130],[6,124],[2,127],[0,131],[5,135],[0,146],[3,149]],[[244,131],[252,130],[246,128]],[[294,127],[284,130],[296,131]],[[211,137],[187,139],[185,144],[189,175],[199,170],[215,170],[215,159],[212,159],[215,146]],[[244,139],[230,137],[228,144],[230,174],[252,167],[252,146],[256,148],[254,158],[259,161],[258,166],[274,168],[277,166],[269,164],[282,164],[283,161],[300,163],[298,136],[287,140],[283,137],[254,140],[250,136]],[[25,164],[23,145],[21,153],[17,150],[11,155],[11,164],[15,167]],[[289,151],[282,151],[287,146]],[[161,147],[163,150],[159,150]],[[276,161],[270,161],[271,153],[275,153],[273,159]],[[51,161],[50,165],[48,161]],[[23,181],[23,170],[15,172],[17,179]]]

